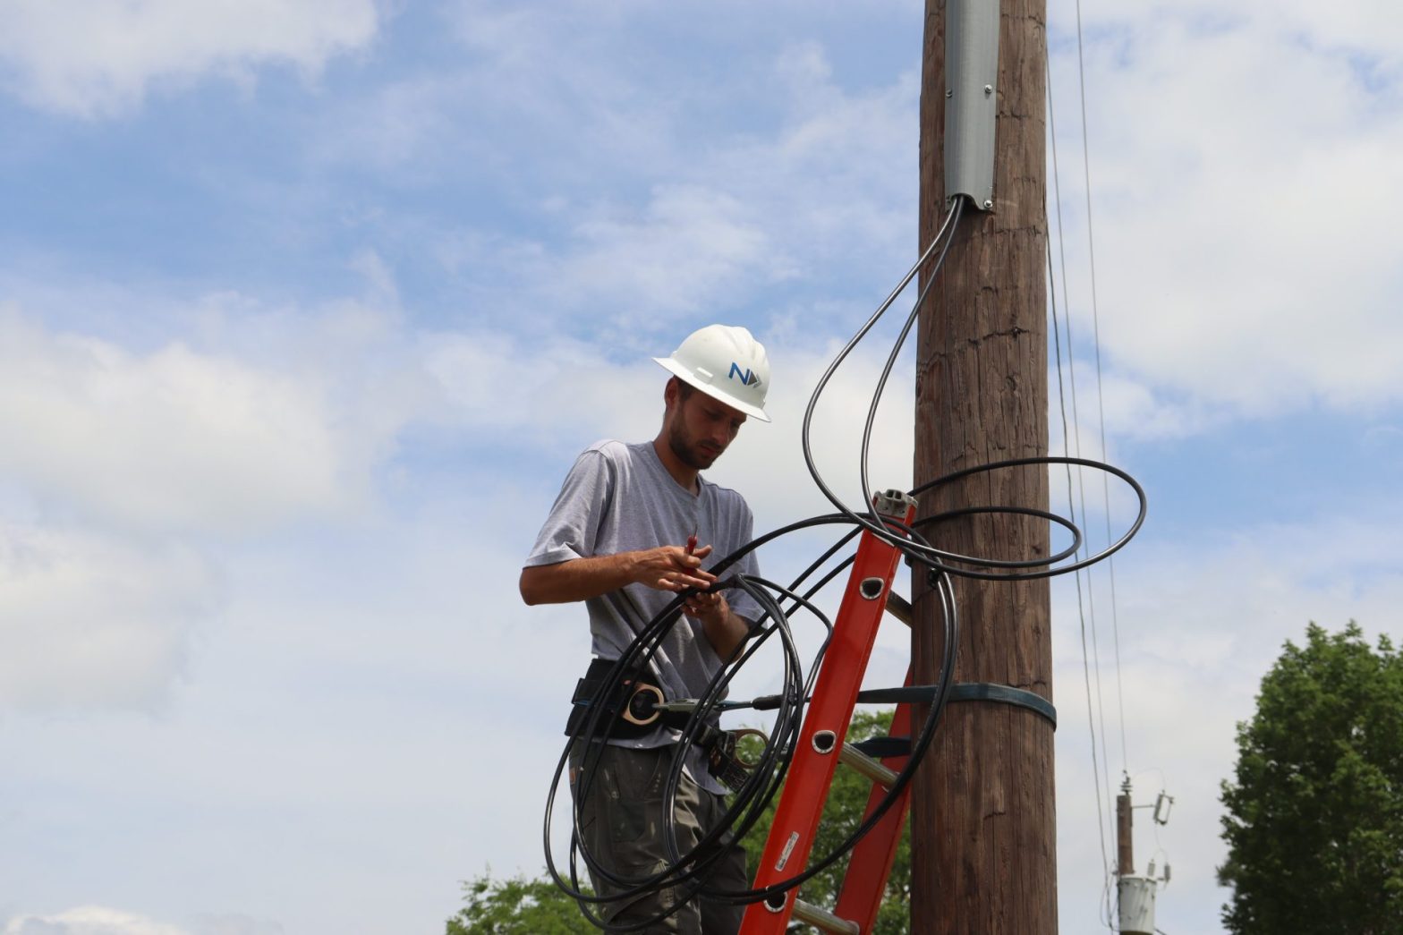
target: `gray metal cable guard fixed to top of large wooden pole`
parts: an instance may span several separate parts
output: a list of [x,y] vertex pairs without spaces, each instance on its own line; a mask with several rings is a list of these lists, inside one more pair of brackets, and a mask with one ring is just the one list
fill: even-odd
[[946,198],[993,209],[999,0],[946,4]]

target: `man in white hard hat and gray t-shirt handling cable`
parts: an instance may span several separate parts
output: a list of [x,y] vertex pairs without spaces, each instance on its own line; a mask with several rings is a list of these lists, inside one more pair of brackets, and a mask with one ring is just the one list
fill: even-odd
[[[669,699],[699,698],[760,618],[753,598],[739,588],[707,591],[716,581],[707,567],[748,543],[753,524],[738,493],[700,472],[725,452],[748,417],[769,421],[769,361],[749,331],[721,324],[694,331],[672,357],[654,359],[672,373],[657,438],[631,445],[605,441],[579,455],[526,559],[521,592],[526,604],[585,602],[596,657],[591,674],[602,678],[607,663],[599,660],[617,660],[678,594],[697,588],[652,656],[647,677]],[[753,553],[732,570],[756,574]],[[662,792],[676,737],[668,729],[610,737],[578,803],[581,840],[615,873],[641,877],[666,863]],[[572,792],[584,747],[579,741],[571,751]],[[716,825],[724,790],[702,751],[692,750],[675,800],[679,852]],[[707,882],[746,889],[744,851],[730,845]],[[598,876],[593,883],[598,893],[617,891]],[[612,922],[643,921],[679,898],[673,887],[664,887],[645,898],[605,904],[603,913]],[[647,931],[732,935],[742,915],[741,906],[703,897]]]

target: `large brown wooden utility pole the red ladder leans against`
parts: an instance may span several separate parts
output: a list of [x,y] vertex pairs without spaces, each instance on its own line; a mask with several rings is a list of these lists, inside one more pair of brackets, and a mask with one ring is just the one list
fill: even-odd
[[[961,468],[1045,455],[1045,0],[1000,4],[993,211],[965,211],[920,313],[916,484]],[[920,248],[947,211],[943,183],[946,0],[926,1],[920,93]],[[929,277],[929,270],[925,271]],[[920,514],[965,505],[1047,510],[1045,465],[927,493]],[[1048,524],[975,515],[926,528],[964,555],[1048,555]],[[925,574],[912,658],[939,674],[940,609]],[[1048,583],[955,580],[957,682],[1052,696]],[[912,795],[912,925],[922,935],[1056,932],[1052,724],[1027,708],[951,703]]]

